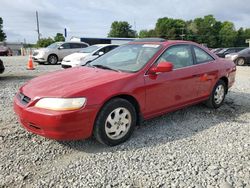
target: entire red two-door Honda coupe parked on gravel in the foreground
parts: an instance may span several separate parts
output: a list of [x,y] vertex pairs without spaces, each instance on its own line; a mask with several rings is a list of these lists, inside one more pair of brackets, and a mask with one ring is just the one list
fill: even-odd
[[85,67],[29,81],[14,109],[35,134],[56,140],[93,135],[113,146],[127,140],[141,119],[204,101],[220,107],[235,73],[233,62],[194,42],[140,39]]

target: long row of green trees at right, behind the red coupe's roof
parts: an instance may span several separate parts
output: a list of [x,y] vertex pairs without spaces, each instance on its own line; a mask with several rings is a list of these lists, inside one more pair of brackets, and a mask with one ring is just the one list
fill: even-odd
[[139,37],[191,40],[210,48],[247,46],[245,40],[250,39],[250,28],[237,31],[232,22],[220,22],[213,15],[189,21],[164,17],[157,20],[154,29],[141,30]]

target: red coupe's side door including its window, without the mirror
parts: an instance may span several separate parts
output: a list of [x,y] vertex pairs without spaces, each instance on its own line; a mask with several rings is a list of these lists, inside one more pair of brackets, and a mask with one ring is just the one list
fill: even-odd
[[173,71],[145,75],[147,114],[171,111],[197,98],[197,85],[193,77],[193,54],[190,45],[174,45],[166,49],[153,66],[162,61],[171,62]]

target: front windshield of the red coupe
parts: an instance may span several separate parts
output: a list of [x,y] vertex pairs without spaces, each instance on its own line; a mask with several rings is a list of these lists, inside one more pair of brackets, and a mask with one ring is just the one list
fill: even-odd
[[91,66],[105,66],[113,70],[137,72],[159,51],[161,45],[128,44],[120,46],[96,59]]

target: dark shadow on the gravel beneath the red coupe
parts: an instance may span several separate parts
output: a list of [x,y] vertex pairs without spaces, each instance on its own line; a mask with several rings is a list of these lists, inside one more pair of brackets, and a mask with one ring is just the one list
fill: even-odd
[[210,109],[204,104],[198,104],[144,121],[136,127],[128,141],[118,146],[108,147],[93,138],[60,144],[86,153],[136,150],[192,137],[213,126],[220,126],[221,123],[245,123],[238,117],[249,112],[249,94],[231,91],[219,109]]

